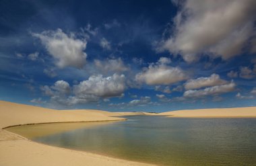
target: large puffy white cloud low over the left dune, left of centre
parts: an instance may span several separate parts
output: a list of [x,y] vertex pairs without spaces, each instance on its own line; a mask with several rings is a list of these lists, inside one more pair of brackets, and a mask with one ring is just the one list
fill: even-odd
[[96,95],[98,97],[115,97],[122,95],[125,91],[125,75],[114,74],[110,77],[96,75],[89,77],[88,80],[74,85],[75,96]]

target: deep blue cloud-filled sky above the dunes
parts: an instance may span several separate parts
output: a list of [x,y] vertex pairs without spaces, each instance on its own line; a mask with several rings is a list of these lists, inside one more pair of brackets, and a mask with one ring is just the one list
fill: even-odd
[[256,106],[256,1],[0,0],[0,99],[164,112]]

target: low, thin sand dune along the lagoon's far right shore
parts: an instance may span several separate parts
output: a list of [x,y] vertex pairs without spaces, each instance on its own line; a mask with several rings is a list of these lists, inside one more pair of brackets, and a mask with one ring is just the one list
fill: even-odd
[[256,118],[256,107],[181,110],[156,115],[181,118]]

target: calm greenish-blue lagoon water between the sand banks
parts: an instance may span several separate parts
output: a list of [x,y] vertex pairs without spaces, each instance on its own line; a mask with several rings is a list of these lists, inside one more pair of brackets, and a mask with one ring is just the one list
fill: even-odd
[[72,124],[8,130],[44,144],[157,165],[256,165],[256,118],[125,118],[69,130],[65,125]]

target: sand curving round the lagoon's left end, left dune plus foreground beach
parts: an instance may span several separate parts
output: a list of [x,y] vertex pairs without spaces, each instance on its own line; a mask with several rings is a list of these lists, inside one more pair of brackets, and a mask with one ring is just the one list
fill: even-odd
[[94,122],[125,120],[119,114],[99,110],[57,111],[0,101],[0,165],[148,165],[32,142],[1,128],[49,122]]

